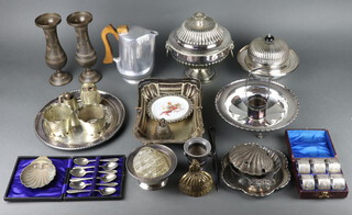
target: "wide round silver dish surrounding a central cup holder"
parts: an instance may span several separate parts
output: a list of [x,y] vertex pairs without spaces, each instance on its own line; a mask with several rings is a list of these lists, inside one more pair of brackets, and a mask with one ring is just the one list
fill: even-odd
[[297,117],[299,102],[289,89],[274,81],[270,83],[265,118],[252,120],[248,116],[248,97],[255,94],[256,88],[267,87],[267,82],[260,80],[251,80],[246,84],[246,79],[227,84],[216,97],[218,113],[230,125],[251,132],[271,132],[287,126]]

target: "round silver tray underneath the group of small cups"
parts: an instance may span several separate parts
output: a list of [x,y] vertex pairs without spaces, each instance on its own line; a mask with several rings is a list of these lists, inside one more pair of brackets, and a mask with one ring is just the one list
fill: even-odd
[[[79,90],[72,91],[77,102],[80,104]],[[110,139],[121,127],[124,121],[124,106],[122,102],[114,95],[99,91],[101,94],[101,104],[106,106],[107,122],[105,125],[103,134],[97,139],[88,139],[86,138],[81,126],[76,126],[73,129],[72,138],[62,137],[62,138],[52,138],[47,132],[44,129],[44,110],[53,103],[57,102],[57,98],[48,102],[36,115],[35,117],[35,133],[36,136],[47,146],[62,149],[62,150],[80,150],[90,148],[97,145],[100,145],[108,139]]]

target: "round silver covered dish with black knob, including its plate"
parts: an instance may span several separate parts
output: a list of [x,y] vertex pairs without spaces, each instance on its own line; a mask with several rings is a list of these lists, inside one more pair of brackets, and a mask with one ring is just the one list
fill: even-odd
[[256,37],[241,48],[238,61],[244,70],[273,79],[286,76],[299,64],[296,53],[283,39],[271,34]]

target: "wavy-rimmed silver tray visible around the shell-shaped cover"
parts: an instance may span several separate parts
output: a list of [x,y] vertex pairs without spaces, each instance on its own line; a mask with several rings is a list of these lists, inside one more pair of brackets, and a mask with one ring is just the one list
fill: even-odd
[[224,184],[233,190],[241,190],[248,195],[266,196],[274,191],[286,186],[290,180],[288,170],[288,161],[284,154],[278,150],[273,150],[278,156],[280,168],[276,173],[266,176],[266,178],[254,178],[250,174],[234,173],[231,163],[229,162],[229,154],[222,157],[221,161],[221,179]]

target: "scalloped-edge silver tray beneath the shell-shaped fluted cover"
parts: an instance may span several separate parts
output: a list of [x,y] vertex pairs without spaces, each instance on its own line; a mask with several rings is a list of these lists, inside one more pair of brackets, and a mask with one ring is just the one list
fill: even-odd
[[226,154],[222,157],[221,160],[221,179],[224,182],[224,184],[233,190],[240,190],[244,192],[248,195],[253,195],[253,196],[266,196],[272,194],[274,191],[283,189],[286,186],[290,180],[290,173],[288,170],[288,161],[285,155],[278,150],[273,150],[275,154],[278,155],[280,159],[280,170],[278,173],[275,174],[275,185],[273,185],[268,190],[255,190],[251,189],[249,184],[246,184],[246,180],[244,180],[243,177],[240,174],[235,174],[231,170],[231,166],[229,162],[229,154]]

